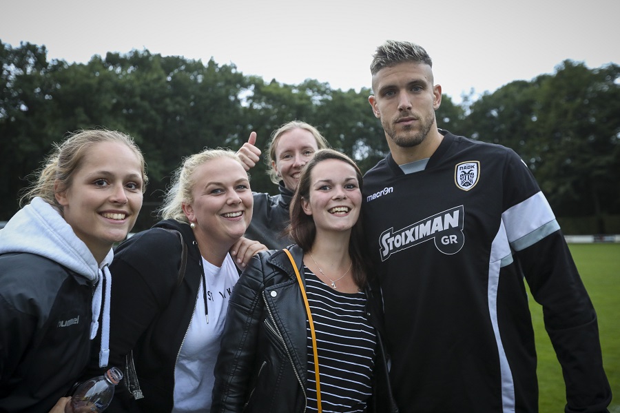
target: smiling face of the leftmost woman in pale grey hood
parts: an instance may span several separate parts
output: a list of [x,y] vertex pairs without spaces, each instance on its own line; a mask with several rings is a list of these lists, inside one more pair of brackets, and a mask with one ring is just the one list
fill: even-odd
[[99,142],[85,152],[69,188],[56,193],[65,221],[97,262],[134,227],[142,187],[136,153],[124,143]]

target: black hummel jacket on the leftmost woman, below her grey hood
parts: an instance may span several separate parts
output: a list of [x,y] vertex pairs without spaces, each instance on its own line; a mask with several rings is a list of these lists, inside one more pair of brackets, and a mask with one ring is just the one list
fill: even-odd
[[48,413],[89,361],[94,287],[43,256],[8,253],[0,288],[0,412]]

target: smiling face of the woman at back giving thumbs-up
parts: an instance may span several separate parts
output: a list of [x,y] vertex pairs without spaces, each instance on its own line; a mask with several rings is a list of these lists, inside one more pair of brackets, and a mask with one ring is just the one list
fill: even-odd
[[317,150],[316,139],[309,130],[296,128],[280,136],[272,166],[282,177],[286,188],[291,191],[297,188],[301,170]]

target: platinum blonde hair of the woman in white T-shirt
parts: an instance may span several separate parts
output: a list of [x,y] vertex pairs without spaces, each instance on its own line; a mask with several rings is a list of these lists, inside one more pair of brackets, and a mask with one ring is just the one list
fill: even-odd
[[163,205],[159,209],[159,214],[163,219],[174,219],[178,222],[189,223],[185,212],[183,212],[183,204],[194,201],[192,189],[196,181],[192,179],[192,174],[200,165],[220,158],[234,159],[243,166],[241,159],[235,152],[223,148],[205,149],[183,160],[183,165],[174,171],[172,183],[166,191]]

